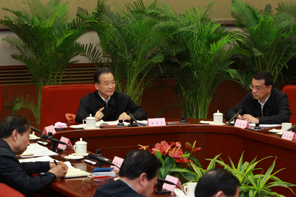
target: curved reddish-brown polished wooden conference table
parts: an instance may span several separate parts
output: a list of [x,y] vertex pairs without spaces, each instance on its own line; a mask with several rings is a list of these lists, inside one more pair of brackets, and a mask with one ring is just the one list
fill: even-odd
[[[148,145],[153,148],[161,141],[181,142],[183,152],[190,151],[185,147],[185,142],[201,147],[200,151],[193,155],[198,159],[203,168],[206,168],[210,161],[219,155],[224,163],[230,164],[229,158],[237,166],[241,155],[244,162],[256,161],[265,157],[274,156],[261,161],[256,168],[262,168],[263,174],[276,159],[273,172],[286,168],[276,174],[282,181],[296,184],[296,142],[282,139],[280,135],[270,133],[268,130],[250,131],[230,126],[202,125],[201,119],[186,119],[187,125],[167,125],[155,127],[125,127],[94,130],[71,130],[66,128],[53,134],[54,138],[60,139],[64,136],[69,138],[74,144],[82,137],[87,142],[87,151],[95,153],[101,150],[106,158],[113,159],[114,156],[124,158],[125,154],[138,149],[140,145]],[[205,119],[202,119],[205,120]],[[177,120],[168,120],[177,121]],[[43,127],[43,126],[42,126]],[[229,157],[229,158],[228,158]],[[75,167],[82,170],[91,171],[94,166],[77,163]],[[219,167],[217,165],[217,167]],[[261,173],[258,170],[259,174]],[[50,188],[69,197],[91,197],[97,187],[89,188],[81,183],[81,178],[77,180],[56,180]],[[292,187],[296,192],[296,187]],[[293,193],[282,187],[275,187],[273,191],[286,197],[294,196]]]

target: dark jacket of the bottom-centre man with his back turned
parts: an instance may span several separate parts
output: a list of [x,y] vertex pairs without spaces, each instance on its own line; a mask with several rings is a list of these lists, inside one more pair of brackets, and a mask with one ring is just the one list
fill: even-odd
[[100,186],[94,197],[144,197],[138,194],[121,180],[110,180],[107,184]]

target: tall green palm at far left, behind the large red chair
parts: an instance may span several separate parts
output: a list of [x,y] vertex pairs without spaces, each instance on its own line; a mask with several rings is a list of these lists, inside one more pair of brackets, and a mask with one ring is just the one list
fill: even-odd
[[77,62],[71,59],[84,52],[76,39],[89,29],[81,19],[71,19],[68,2],[51,0],[44,5],[40,0],[28,0],[24,6],[28,9],[2,8],[13,16],[5,15],[0,24],[16,34],[3,40],[16,50],[11,57],[28,68],[36,84],[37,101],[21,95],[12,98],[7,107],[11,112],[20,107],[30,109],[39,124],[42,87],[61,84],[66,66]]

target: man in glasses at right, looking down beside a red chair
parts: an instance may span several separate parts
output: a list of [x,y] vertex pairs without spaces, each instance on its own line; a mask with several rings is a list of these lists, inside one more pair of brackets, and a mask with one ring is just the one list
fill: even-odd
[[260,124],[282,124],[289,123],[291,110],[289,100],[285,93],[272,88],[273,78],[269,72],[259,71],[254,74],[248,93],[233,108],[225,113],[226,120],[231,119],[238,110],[242,109],[243,114],[238,119],[246,120],[249,123]]

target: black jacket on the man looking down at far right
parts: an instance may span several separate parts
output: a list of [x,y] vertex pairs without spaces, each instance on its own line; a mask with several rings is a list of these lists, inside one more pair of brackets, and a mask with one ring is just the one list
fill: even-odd
[[229,108],[224,117],[231,119],[238,110],[242,109],[243,114],[250,114],[258,118],[260,124],[282,124],[289,123],[291,110],[289,109],[289,100],[285,93],[273,88],[270,97],[263,106],[263,116],[261,114],[261,105],[258,99],[254,99],[252,92],[248,93],[233,108]]

